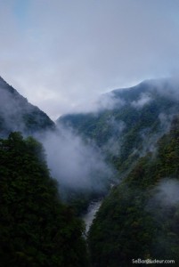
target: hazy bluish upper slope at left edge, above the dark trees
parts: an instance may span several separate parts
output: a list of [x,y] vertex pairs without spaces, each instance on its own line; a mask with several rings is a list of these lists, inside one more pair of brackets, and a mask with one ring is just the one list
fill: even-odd
[[53,129],[53,121],[37,107],[31,105],[11,85],[0,77],[0,136],[13,131],[36,134]]

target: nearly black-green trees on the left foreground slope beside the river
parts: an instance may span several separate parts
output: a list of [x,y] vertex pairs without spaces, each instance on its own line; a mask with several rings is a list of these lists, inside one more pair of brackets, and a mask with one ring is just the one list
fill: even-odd
[[0,196],[2,267],[87,265],[83,223],[61,204],[35,139],[0,140]]

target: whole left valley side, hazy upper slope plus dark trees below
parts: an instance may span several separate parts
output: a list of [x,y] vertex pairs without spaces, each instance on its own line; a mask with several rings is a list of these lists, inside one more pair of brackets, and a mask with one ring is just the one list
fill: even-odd
[[49,138],[56,126],[1,77],[0,95],[1,266],[87,266],[84,223],[62,203],[45,150],[29,136]]

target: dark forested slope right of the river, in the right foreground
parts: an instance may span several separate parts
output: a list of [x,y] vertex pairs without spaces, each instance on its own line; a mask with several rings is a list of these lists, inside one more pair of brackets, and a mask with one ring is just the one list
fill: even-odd
[[93,266],[132,266],[132,259],[138,258],[174,259],[178,266],[178,159],[179,119],[175,117],[156,154],[140,158],[102,203],[88,238]]

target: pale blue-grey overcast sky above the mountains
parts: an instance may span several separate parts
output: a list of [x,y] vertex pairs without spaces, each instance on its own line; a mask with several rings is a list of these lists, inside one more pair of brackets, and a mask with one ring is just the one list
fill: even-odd
[[0,76],[53,119],[179,72],[178,0],[0,0]]

